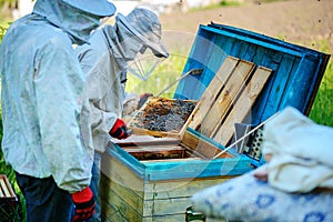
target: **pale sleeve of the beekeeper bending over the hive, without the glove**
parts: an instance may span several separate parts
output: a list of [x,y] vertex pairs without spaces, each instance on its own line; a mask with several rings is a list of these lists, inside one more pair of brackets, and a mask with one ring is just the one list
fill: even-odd
[[[114,101],[110,101],[110,95],[108,95],[112,83],[118,79],[114,77],[115,70],[108,48],[103,47],[103,44],[95,46],[92,42],[91,46],[82,46],[77,49],[81,68],[88,81],[92,134],[109,134],[118,118],[117,109],[111,109]],[[107,102],[109,104],[105,104]]]

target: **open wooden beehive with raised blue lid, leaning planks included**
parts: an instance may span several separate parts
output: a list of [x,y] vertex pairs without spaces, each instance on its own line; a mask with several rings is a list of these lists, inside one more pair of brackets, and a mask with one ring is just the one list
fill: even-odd
[[163,115],[148,101],[143,109],[149,109],[131,123],[141,133],[109,143],[101,169],[103,220],[184,221],[193,193],[260,164],[250,151],[226,149],[234,124],[258,125],[286,105],[309,112],[327,60],[327,54],[246,30],[200,26],[183,73],[203,72],[182,79],[173,98],[195,105],[176,137],[168,137],[174,129],[142,124],[149,109]]

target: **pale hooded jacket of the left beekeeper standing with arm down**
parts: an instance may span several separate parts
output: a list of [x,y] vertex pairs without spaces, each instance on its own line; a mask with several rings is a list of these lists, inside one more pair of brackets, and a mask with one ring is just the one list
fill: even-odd
[[19,173],[52,175],[72,193],[90,183],[93,148],[85,79],[69,34],[75,31],[65,29],[80,23],[80,13],[62,4],[38,0],[33,13],[13,22],[2,40],[1,148]]

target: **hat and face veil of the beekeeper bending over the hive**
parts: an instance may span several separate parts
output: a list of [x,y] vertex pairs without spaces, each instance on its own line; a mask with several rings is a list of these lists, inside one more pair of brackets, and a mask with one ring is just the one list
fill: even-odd
[[154,68],[169,57],[161,41],[162,28],[158,16],[149,9],[135,8],[127,17],[118,13],[115,28],[125,52],[124,59],[129,62],[128,71],[147,80]]

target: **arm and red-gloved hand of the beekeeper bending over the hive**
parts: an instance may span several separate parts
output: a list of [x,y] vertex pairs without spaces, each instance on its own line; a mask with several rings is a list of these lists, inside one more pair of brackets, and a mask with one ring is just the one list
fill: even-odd
[[[104,53],[98,56],[99,51]],[[99,59],[97,60],[95,57]],[[123,89],[121,89],[120,79],[115,74],[114,61],[110,58],[109,51],[90,49],[90,46],[84,46],[79,51],[79,60],[87,74],[92,134],[110,134],[118,139],[127,138],[127,125],[119,119],[122,112]]]

